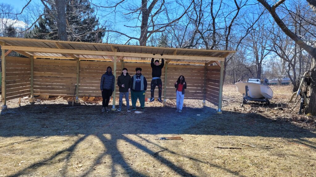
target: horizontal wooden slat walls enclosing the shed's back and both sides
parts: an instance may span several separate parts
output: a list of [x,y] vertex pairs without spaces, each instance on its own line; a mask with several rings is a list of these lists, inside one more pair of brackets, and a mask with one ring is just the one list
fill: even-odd
[[[7,98],[17,98],[30,94],[30,59],[6,57],[7,60]],[[100,78],[106,72],[109,61],[80,61],[79,65],[79,96],[101,96]],[[150,97],[150,83],[152,80],[150,63],[125,62],[130,76],[136,74],[135,68],[141,67],[142,74],[147,80],[146,98]],[[189,66],[168,64],[167,84],[164,85],[165,72],[162,69],[161,80],[163,91],[166,90],[167,99],[175,99],[174,83],[180,75],[185,77],[187,89],[185,99],[203,100],[205,66]],[[122,63],[117,63],[116,81],[122,72]],[[207,66],[206,97],[214,105],[219,99],[219,66]],[[116,84],[116,83],[115,83]],[[76,60],[34,59],[34,95],[73,96],[76,86]],[[116,92],[119,87],[116,84]],[[119,94],[116,94],[118,97]],[[163,93],[162,93],[163,96]],[[155,98],[158,98],[158,88],[155,88]]]

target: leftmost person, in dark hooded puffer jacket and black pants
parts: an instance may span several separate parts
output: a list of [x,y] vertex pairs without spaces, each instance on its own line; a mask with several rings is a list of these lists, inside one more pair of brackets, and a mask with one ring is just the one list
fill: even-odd
[[109,101],[115,87],[115,77],[112,74],[112,68],[108,66],[106,72],[101,77],[100,89],[102,93],[102,112],[110,111]]

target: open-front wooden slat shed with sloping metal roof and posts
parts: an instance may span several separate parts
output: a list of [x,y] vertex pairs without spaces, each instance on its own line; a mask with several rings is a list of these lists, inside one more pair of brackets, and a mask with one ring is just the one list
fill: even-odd
[[[163,100],[174,99],[174,83],[180,75],[185,76],[187,89],[185,99],[199,99],[222,106],[223,61],[235,51],[176,49],[119,45],[105,43],[83,43],[26,38],[0,37],[2,50],[2,107],[6,101],[23,96],[60,95],[101,96],[100,77],[107,66],[112,67],[115,78],[127,68],[130,75],[141,67],[142,74],[150,83],[150,60],[165,59]],[[27,58],[7,56],[11,51]],[[150,95],[150,84],[146,92]],[[118,97],[119,90],[113,97]],[[158,94],[155,94],[158,96]],[[113,99],[115,108],[115,99]]]

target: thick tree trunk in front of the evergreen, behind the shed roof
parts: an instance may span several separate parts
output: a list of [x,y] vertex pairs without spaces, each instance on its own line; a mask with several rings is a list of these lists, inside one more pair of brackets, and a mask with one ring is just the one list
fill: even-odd
[[57,10],[57,28],[59,40],[67,41],[67,24],[66,24],[66,12],[65,12],[65,0],[55,0]]

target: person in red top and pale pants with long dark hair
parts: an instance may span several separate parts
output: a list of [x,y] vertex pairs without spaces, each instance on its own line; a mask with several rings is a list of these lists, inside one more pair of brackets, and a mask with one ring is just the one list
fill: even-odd
[[184,92],[186,89],[186,82],[184,76],[180,76],[176,83],[174,83],[174,87],[176,88],[176,98],[177,98],[177,111],[182,112],[183,100],[184,100]]

